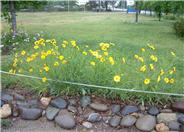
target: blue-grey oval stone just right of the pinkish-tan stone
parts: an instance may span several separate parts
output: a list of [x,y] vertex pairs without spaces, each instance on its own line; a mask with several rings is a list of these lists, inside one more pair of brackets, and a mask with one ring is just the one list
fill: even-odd
[[60,97],[53,99],[50,104],[60,109],[65,109],[67,106],[66,101]]

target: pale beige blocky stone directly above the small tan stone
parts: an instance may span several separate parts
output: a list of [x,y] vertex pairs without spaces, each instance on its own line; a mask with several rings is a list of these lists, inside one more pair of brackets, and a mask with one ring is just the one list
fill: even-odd
[[170,121],[177,121],[176,113],[160,113],[157,115],[158,123],[168,123]]

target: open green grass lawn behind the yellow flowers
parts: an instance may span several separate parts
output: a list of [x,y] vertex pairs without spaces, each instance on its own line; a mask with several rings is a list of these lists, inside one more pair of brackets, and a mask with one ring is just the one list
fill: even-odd
[[135,24],[135,14],[125,13],[36,12],[17,15],[18,26],[25,27],[31,33],[43,31],[46,39],[56,39],[58,43],[75,40],[80,46],[95,48],[100,42],[113,42],[116,44],[113,53],[120,57],[127,55],[127,58],[138,54],[150,43],[155,46],[154,54],[160,56],[158,59],[162,60],[163,67],[170,65],[168,55],[174,51],[177,57],[177,85],[169,92],[184,91],[184,39],[175,35],[173,21],[159,22],[155,17],[140,15],[139,23]]

